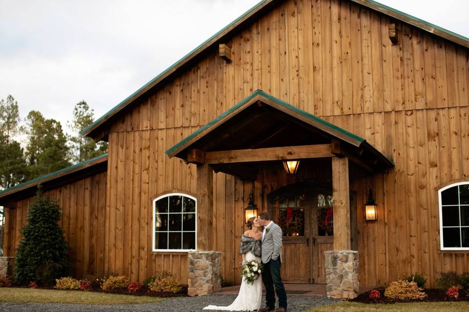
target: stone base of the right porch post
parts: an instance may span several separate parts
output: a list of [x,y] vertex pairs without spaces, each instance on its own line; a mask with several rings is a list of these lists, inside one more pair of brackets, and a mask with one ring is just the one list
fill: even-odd
[[324,252],[326,290],[329,298],[353,299],[358,295],[358,252],[330,250]]

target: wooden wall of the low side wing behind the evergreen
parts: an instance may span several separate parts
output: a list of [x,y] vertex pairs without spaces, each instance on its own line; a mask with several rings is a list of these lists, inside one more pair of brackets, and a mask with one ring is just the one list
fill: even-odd
[[[104,266],[106,172],[88,176],[44,192],[62,207],[59,224],[68,243],[70,273],[77,278],[106,272]],[[7,208],[6,256],[14,256],[34,198],[17,201]]]

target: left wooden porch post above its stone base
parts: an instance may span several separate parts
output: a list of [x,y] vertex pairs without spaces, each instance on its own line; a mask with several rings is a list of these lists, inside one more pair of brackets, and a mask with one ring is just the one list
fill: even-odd
[[213,215],[213,169],[208,164],[197,165],[197,251],[210,251]]

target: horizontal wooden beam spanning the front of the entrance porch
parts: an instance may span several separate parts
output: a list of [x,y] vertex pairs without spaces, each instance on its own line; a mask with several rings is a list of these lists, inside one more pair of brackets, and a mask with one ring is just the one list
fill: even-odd
[[206,152],[208,164],[334,157],[330,144]]

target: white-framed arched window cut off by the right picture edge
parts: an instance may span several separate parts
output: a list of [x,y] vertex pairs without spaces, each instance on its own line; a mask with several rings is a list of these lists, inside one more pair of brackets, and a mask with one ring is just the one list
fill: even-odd
[[469,182],[438,191],[441,250],[469,250]]

